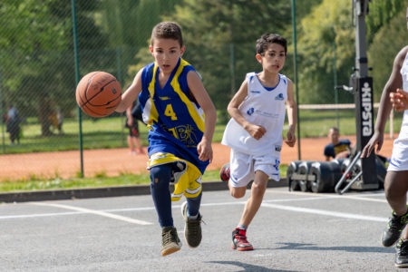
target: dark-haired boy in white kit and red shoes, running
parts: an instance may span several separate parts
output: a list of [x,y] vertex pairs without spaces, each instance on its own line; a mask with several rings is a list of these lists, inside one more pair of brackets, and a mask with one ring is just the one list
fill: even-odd
[[296,102],[292,82],[279,71],[287,57],[287,41],[278,34],[263,34],[257,40],[257,62],[262,72],[248,73],[238,92],[228,104],[231,120],[222,143],[231,148],[229,159],[231,196],[245,196],[247,185],[254,180],[251,196],[232,231],[232,248],[252,250],[247,228],[259,209],[269,178],[279,180],[280,151],[285,111],[289,122],[286,143],[296,143]]

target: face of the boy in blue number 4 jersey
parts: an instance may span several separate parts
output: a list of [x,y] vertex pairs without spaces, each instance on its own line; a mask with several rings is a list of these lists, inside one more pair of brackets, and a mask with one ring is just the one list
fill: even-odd
[[170,74],[176,67],[180,56],[184,53],[185,47],[180,47],[177,40],[154,39],[154,43],[149,49],[159,65],[161,73]]

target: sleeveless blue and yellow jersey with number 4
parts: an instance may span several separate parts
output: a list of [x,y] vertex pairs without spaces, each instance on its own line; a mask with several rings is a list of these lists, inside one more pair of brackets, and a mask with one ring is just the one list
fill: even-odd
[[197,145],[204,133],[204,112],[189,94],[187,74],[195,69],[180,58],[167,83],[160,88],[160,68],[146,65],[141,73],[139,94],[143,121],[149,128],[149,156],[171,153],[188,160],[201,173],[209,161],[199,160]]

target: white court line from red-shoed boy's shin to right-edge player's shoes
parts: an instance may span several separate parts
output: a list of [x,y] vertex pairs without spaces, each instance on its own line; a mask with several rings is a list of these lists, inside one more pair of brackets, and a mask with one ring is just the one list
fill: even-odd
[[343,218],[343,219],[359,219],[359,220],[376,221],[376,222],[387,222],[388,221],[388,219],[385,219],[385,218],[364,216],[364,215],[338,212],[338,211],[330,211],[330,210],[324,210],[324,209],[308,209],[308,208],[283,206],[283,205],[270,204],[270,203],[262,203],[262,207],[267,207],[267,208],[272,208],[272,209],[284,209],[284,210],[290,210],[290,211],[296,211],[296,212],[302,212],[302,213],[313,213],[313,214],[319,214],[319,215],[325,215],[325,216]]

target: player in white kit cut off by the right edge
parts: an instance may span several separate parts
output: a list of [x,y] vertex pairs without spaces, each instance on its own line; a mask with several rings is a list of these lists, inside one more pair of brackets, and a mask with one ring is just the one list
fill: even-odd
[[[406,10],[408,28],[408,8]],[[401,89],[403,88],[403,89]],[[392,107],[403,112],[403,124],[398,138],[393,142],[393,155],[384,180],[385,197],[393,209],[391,218],[385,228],[382,243],[391,247],[396,245],[395,267],[408,267],[408,209],[406,194],[408,191],[408,46],[397,53],[393,61],[393,72],[384,86],[380,108],[373,137],[362,151],[361,157],[368,157],[377,145],[380,151],[384,141],[384,127]]]

